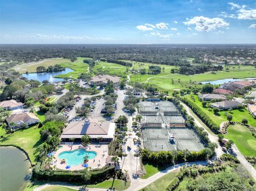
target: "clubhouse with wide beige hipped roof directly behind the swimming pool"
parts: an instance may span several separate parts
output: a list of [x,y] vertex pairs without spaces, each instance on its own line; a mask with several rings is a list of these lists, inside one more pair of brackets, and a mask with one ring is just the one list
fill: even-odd
[[70,122],[63,130],[60,138],[69,140],[70,138],[81,139],[85,134],[89,135],[92,142],[101,137],[101,142],[110,142],[114,138],[115,123],[86,121],[86,122]]

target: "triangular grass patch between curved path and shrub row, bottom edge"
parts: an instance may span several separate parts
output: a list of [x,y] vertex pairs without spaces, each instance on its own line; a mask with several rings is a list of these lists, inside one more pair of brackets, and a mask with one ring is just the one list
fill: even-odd
[[165,190],[167,186],[170,184],[170,182],[172,181],[172,179],[175,178],[175,175],[177,175],[178,172],[179,170],[169,172],[163,177],[158,178],[157,180],[155,180],[145,188],[142,188],[140,191]]

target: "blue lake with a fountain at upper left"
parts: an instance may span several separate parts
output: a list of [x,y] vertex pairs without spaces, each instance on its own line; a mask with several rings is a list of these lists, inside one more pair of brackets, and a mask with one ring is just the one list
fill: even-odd
[[66,68],[63,71],[59,72],[44,72],[44,73],[24,73],[22,74],[23,77],[28,78],[29,80],[38,80],[38,81],[43,81],[43,80],[50,80],[50,78],[53,78],[54,82],[62,81],[62,78],[54,78],[54,76],[57,76],[59,74],[65,74],[69,72],[73,72],[74,70],[71,70],[70,68]]

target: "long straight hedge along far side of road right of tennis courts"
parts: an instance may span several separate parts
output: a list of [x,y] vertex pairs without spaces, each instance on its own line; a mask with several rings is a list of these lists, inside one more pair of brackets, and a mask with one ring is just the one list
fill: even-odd
[[197,117],[200,118],[213,132],[218,133],[220,127],[217,126],[217,124],[214,123],[213,120],[208,115],[206,115],[200,107],[185,97],[180,97],[180,100],[188,105],[190,109],[193,110],[193,112],[197,115]]

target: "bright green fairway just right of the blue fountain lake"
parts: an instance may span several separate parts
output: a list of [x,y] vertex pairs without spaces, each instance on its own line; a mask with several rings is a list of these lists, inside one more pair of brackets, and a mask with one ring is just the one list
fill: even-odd
[[69,72],[66,74],[59,74],[58,76],[54,76],[55,78],[78,78],[79,74],[81,73],[87,73],[89,65],[84,63],[83,60],[89,59],[85,57],[77,57],[77,60],[74,62],[68,62],[68,63],[61,63],[62,67],[70,68],[74,70],[73,72]]

